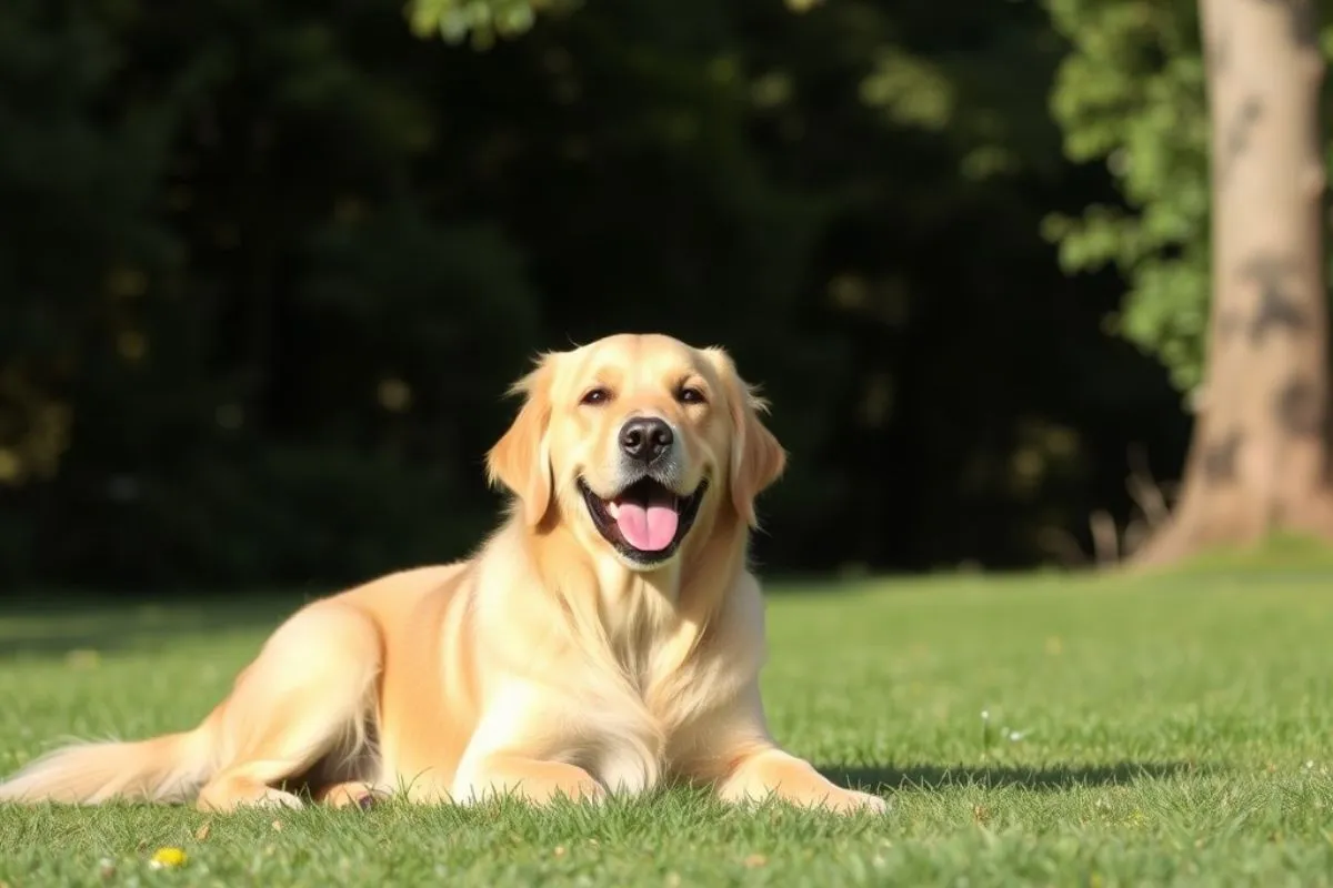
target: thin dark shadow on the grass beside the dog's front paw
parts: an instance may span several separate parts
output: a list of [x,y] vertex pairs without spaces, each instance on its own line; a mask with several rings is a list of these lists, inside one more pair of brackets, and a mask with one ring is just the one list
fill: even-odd
[[841,787],[862,789],[901,789],[936,792],[938,789],[981,787],[1018,787],[1053,792],[1074,787],[1104,787],[1164,780],[1196,774],[1198,767],[1186,762],[1118,762],[1116,764],[1072,764],[1044,768],[994,764],[989,767],[906,766],[902,768],[849,768],[824,766],[818,771]]

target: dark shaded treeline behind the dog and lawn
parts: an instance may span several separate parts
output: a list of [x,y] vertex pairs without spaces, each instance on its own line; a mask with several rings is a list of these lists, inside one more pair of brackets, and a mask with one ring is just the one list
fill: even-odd
[[1042,218],[1026,3],[597,0],[488,52],[396,0],[0,4],[0,582],[333,583],[465,553],[540,349],[728,346],[769,571],[1018,566],[1178,469]]

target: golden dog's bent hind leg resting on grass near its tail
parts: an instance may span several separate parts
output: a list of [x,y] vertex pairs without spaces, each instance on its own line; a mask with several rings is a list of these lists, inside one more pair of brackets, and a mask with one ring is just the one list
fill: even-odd
[[276,784],[363,751],[380,663],[380,632],[355,607],[331,599],[295,614],[209,718],[219,768],[199,807],[300,807]]

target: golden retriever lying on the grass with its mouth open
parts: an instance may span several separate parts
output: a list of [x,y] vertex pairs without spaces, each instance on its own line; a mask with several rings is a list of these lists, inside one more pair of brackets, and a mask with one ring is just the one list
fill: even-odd
[[56,750],[0,801],[545,804],[674,780],[884,811],[765,722],[746,547],[786,454],[730,357],[620,334],[541,355],[512,393],[487,454],[511,506],[471,558],[304,606],[199,727]]

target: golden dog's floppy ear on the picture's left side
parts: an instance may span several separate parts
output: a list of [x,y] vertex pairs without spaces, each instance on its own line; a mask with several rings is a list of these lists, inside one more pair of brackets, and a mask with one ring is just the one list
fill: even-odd
[[547,517],[555,487],[547,445],[553,362],[553,355],[544,355],[532,373],[509,387],[509,394],[523,395],[523,407],[513,425],[487,453],[487,478],[493,486],[503,485],[519,497],[529,527],[536,527]]

